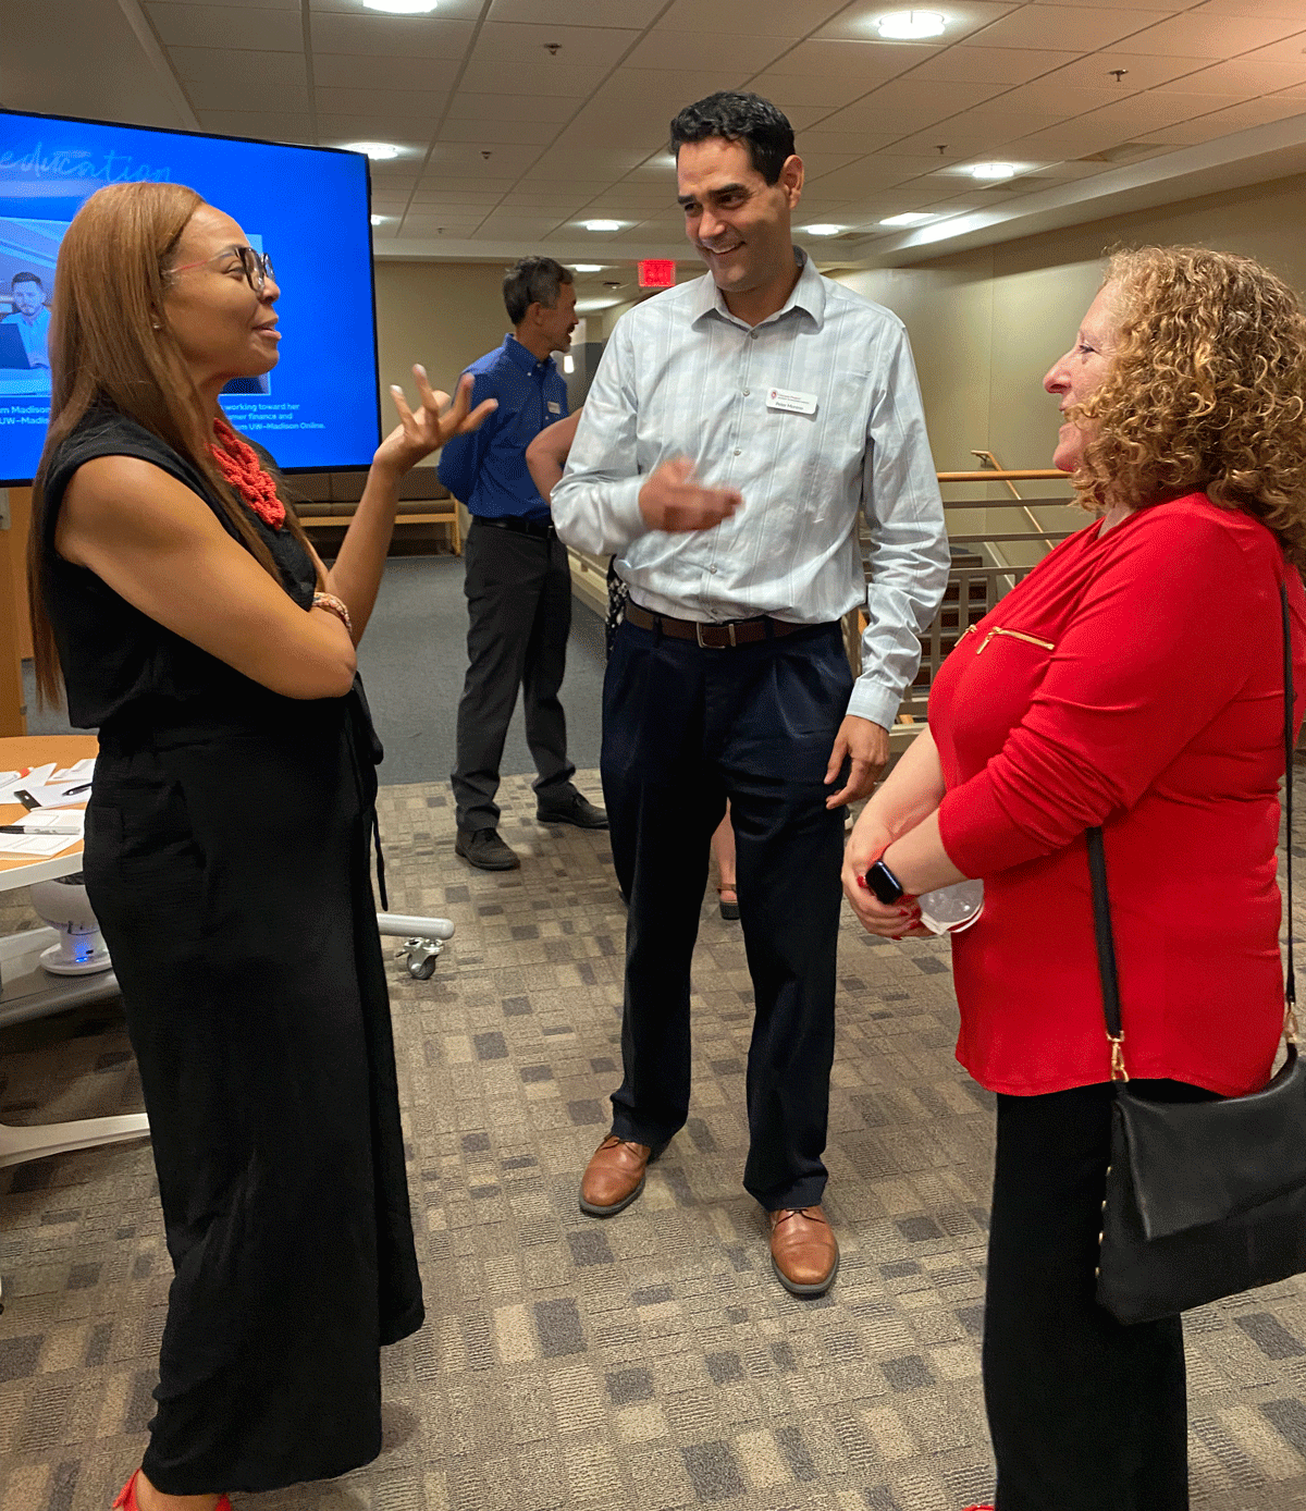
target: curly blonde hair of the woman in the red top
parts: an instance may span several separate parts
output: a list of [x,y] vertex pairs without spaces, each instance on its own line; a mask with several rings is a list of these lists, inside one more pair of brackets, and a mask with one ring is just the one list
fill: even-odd
[[1250,257],[1119,251],[1104,287],[1119,335],[1101,387],[1067,413],[1090,429],[1072,477],[1089,509],[1187,493],[1246,509],[1306,567],[1306,313]]

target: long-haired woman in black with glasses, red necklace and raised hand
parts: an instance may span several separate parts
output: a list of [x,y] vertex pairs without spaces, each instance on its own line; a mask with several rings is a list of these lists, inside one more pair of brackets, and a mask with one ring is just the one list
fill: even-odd
[[128,1511],[344,1473],[380,1449],[382,1343],[423,1321],[368,870],[355,672],[399,479],[474,428],[414,369],[328,571],[222,419],[279,295],[178,184],[63,239],[33,491],[38,677],[100,730],[86,885],[122,985],[175,1266]]

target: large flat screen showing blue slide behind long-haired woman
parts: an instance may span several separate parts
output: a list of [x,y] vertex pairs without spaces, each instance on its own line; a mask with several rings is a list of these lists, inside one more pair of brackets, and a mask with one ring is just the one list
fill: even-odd
[[68,222],[104,184],[189,184],[272,257],[281,360],[222,393],[287,471],[365,467],[380,437],[367,159],[320,147],[0,110],[0,487],[50,419],[45,326]]

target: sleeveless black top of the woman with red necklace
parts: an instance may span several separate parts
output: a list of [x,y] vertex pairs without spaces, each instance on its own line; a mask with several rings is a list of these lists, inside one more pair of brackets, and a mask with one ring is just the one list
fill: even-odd
[[[270,462],[260,452],[264,464]],[[54,550],[59,509],[72,474],[97,456],[137,456],[162,467],[213,509],[240,541],[211,485],[195,465],[152,432],[113,409],[92,409],[57,449],[45,473],[45,609],[54,627],[68,718],[104,731],[202,725],[258,728],[305,716],[313,703],[263,688],[226,662],[174,635],[133,607],[85,567]],[[270,468],[269,468],[270,470]],[[317,586],[313,559],[290,530],[273,530],[252,511],[290,597],[308,609]],[[243,542],[242,542],[243,545]],[[320,700],[337,703],[340,700]]]

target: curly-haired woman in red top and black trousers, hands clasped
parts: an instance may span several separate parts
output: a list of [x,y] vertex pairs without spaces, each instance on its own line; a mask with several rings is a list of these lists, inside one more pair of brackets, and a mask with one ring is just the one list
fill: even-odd
[[915,896],[984,879],[953,959],[957,1058],[998,1092],[1000,1511],[1179,1511],[1179,1321],[1122,1327],[1095,1299],[1111,1061],[1084,833],[1105,834],[1135,1089],[1262,1086],[1283,1020],[1285,582],[1298,722],[1306,692],[1306,317],[1247,258],[1123,252],[1045,387],[1066,420],[1054,464],[1102,517],[939,669],[844,887],[867,929],[901,937],[921,932]]

